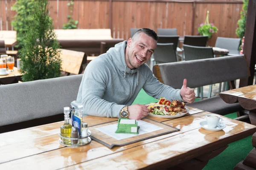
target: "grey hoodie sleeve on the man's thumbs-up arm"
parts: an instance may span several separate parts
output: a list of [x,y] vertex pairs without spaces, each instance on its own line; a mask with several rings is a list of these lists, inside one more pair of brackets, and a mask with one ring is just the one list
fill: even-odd
[[[165,97],[168,100],[180,100],[183,101],[182,97],[180,96],[180,89],[174,89],[169,85],[164,85],[160,81],[154,77],[152,71],[148,68],[145,71],[145,77],[147,77],[145,85],[143,86],[144,91],[153,96],[156,99],[160,97]],[[184,101],[183,101],[184,102]]]

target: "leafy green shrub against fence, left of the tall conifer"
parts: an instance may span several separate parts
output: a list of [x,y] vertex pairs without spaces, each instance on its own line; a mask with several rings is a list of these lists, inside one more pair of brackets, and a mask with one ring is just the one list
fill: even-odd
[[32,19],[32,13],[35,10],[35,0],[17,0],[12,7],[16,11],[12,26],[17,31],[17,46],[22,47],[25,32],[29,29],[28,25]]

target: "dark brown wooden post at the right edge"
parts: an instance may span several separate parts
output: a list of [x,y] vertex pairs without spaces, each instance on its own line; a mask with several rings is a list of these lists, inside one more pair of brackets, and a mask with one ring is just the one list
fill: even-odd
[[256,0],[249,0],[244,33],[244,56],[250,68],[250,77],[241,79],[239,87],[253,84],[256,63]]

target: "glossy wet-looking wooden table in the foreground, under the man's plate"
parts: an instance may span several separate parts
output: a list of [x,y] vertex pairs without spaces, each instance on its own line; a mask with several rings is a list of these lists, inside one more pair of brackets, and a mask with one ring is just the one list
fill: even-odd
[[[207,131],[199,123],[204,112],[188,107],[190,112],[177,119],[153,118],[180,131],[109,149],[92,141],[81,147],[64,147],[58,132],[64,122],[0,134],[0,169],[202,169],[227,144],[256,132],[256,126],[222,116],[227,125],[220,131]],[[117,118],[86,116],[90,126]]]

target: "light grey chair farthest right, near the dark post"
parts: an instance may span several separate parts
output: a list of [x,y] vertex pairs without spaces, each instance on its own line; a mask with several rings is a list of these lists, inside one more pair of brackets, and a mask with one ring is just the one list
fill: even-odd
[[215,47],[228,49],[229,54],[227,55],[240,55],[238,50],[240,42],[241,38],[217,37]]

